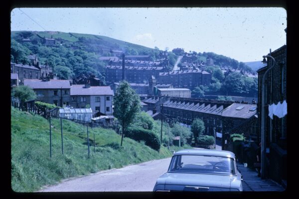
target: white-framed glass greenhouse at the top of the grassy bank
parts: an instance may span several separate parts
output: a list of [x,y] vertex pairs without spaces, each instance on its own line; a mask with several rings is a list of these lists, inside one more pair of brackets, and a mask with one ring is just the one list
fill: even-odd
[[91,108],[59,108],[59,117],[91,122]]

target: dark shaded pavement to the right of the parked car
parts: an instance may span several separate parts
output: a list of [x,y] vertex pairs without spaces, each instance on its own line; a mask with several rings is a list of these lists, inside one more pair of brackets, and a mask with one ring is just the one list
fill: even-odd
[[258,177],[257,171],[244,167],[244,164],[237,163],[238,169],[243,176],[244,192],[283,192],[285,189],[271,179],[261,179]]

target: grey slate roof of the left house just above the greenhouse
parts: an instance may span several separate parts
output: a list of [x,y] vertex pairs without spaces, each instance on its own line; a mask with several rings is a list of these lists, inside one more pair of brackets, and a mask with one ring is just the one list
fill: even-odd
[[42,80],[24,80],[24,85],[32,89],[70,89],[69,80],[50,80],[43,82]]

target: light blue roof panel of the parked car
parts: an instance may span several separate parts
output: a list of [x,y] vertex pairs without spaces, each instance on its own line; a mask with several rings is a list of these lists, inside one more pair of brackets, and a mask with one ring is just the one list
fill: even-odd
[[235,154],[230,151],[214,150],[214,149],[183,149],[173,154],[175,155],[207,155],[221,156],[235,159]]

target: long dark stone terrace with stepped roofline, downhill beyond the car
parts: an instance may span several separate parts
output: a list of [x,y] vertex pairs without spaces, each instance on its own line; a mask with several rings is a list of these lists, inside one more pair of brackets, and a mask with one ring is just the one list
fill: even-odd
[[244,133],[247,139],[257,138],[256,109],[256,104],[222,100],[169,98],[163,102],[164,116],[187,125],[191,125],[195,118],[203,120],[204,133],[221,137],[222,149],[230,151],[230,135],[233,133]]

